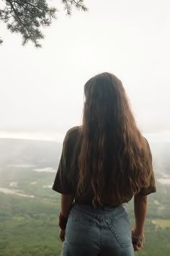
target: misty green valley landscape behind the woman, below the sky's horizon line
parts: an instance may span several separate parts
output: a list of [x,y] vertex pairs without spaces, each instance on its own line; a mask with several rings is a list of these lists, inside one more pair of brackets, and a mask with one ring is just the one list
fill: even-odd
[[[138,255],[169,256],[170,142],[149,144],[157,192],[148,196],[145,250]],[[60,195],[51,188],[61,150],[55,141],[0,139],[0,255],[60,255]],[[133,200],[126,207],[133,225]],[[160,236],[166,237],[164,248]]]

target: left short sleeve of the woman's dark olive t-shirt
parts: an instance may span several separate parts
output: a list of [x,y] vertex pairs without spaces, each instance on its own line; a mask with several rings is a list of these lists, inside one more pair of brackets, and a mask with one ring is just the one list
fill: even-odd
[[61,160],[58,166],[58,171],[55,176],[52,189],[61,194],[71,194],[71,184],[68,179],[68,133],[63,140],[63,150]]

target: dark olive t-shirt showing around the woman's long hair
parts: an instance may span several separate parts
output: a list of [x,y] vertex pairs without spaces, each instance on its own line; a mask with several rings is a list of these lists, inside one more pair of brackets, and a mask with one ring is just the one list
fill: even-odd
[[[61,153],[61,160],[60,160],[58,171],[53,183],[53,190],[61,194],[75,195],[76,187],[73,187],[75,186],[75,182],[73,182],[73,179],[71,179],[71,176],[69,175],[70,174],[69,171],[71,169],[70,168],[71,160],[73,158],[76,142],[79,139],[79,132],[80,132],[80,127],[73,127],[68,130],[68,132],[66,133],[66,137],[63,140],[63,150]],[[149,148],[149,145],[148,145],[148,150],[151,155],[151,150]],[[151,174],[151,185],[149,187],[140,188],[140,192],[138,193],[138,195],[149,195],[153,192],[156,192],[153,168],[151,168],[151,170],[148,170],[148,171]],[[133,195],[131,197],[128,197],[127,200],[125,200],[125,202],[130,201],[132,197]],[[85,203],[85,204],[91,205],[92,199],[93,199],[92,195],[86,195],[86,197],[81,197],[81,198],[75,195],[75,201],[79,203]],[[114,204],[115,202],[110,202],[109,206],[113,206]]]

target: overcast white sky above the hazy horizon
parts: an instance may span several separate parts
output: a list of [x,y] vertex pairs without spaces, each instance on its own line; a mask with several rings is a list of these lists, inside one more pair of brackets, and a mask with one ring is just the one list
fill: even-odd
[[170,1],[84,0],[89,12],[72,17],[52,2],[40,49],[1,23],[0,137],[63,138],[81,124],[84,83],[104,71],[122,80],[142,132],[169,134]]

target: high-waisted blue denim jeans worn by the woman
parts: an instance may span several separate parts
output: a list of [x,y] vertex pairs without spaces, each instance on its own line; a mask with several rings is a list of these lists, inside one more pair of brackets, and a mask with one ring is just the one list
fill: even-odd
[[134,256],[125,206],[93,208],[74,204],[61,256]]

